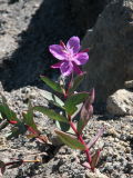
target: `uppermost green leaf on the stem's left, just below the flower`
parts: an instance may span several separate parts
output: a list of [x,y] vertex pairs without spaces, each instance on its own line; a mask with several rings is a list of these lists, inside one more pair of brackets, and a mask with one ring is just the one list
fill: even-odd
[[44,81],[50,88],[52,88],[54,91],[62,93],[62,89],[59,83],[50,80],[45,76],[41,76],[41,80]]

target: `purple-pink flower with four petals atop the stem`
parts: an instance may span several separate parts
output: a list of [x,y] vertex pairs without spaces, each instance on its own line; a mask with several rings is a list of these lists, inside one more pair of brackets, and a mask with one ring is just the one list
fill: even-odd
[[52,44],[49,47],[50,52],[60,60],[60,62],[51,66],[51,68],[60,68],[63,76],[69,76],[73,71],[81,75],[79,66],[86,63],[89,55],[86,50],[80,51],[79,37],[71,37],[66,46],[61,41],[60,44]]

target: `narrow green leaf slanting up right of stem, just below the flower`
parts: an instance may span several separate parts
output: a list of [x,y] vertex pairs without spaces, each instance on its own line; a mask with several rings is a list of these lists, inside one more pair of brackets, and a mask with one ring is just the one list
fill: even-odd
[[86,72],[83,72],[82,75],[79,75],[74,78],[73,85],[69,90],[69,95],[73,93],[75,91],[75,89],[80,86],[80,83],[84,79],[85,75],[86,75]]

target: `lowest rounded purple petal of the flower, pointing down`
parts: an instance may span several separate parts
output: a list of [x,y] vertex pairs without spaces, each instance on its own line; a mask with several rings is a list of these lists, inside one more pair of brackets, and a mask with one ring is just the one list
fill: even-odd
[[73,71],[73,65],[69,61],[63,61],[60,70],[63,76],[70,76]]

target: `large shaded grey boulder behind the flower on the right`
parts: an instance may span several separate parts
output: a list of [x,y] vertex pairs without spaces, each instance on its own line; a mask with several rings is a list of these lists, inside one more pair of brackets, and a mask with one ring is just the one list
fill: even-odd
[[90,49],[83,89],[94,87],[96,102],[104,102],[133,79],[133,1],[111,1],[88,30],[82,47]]

